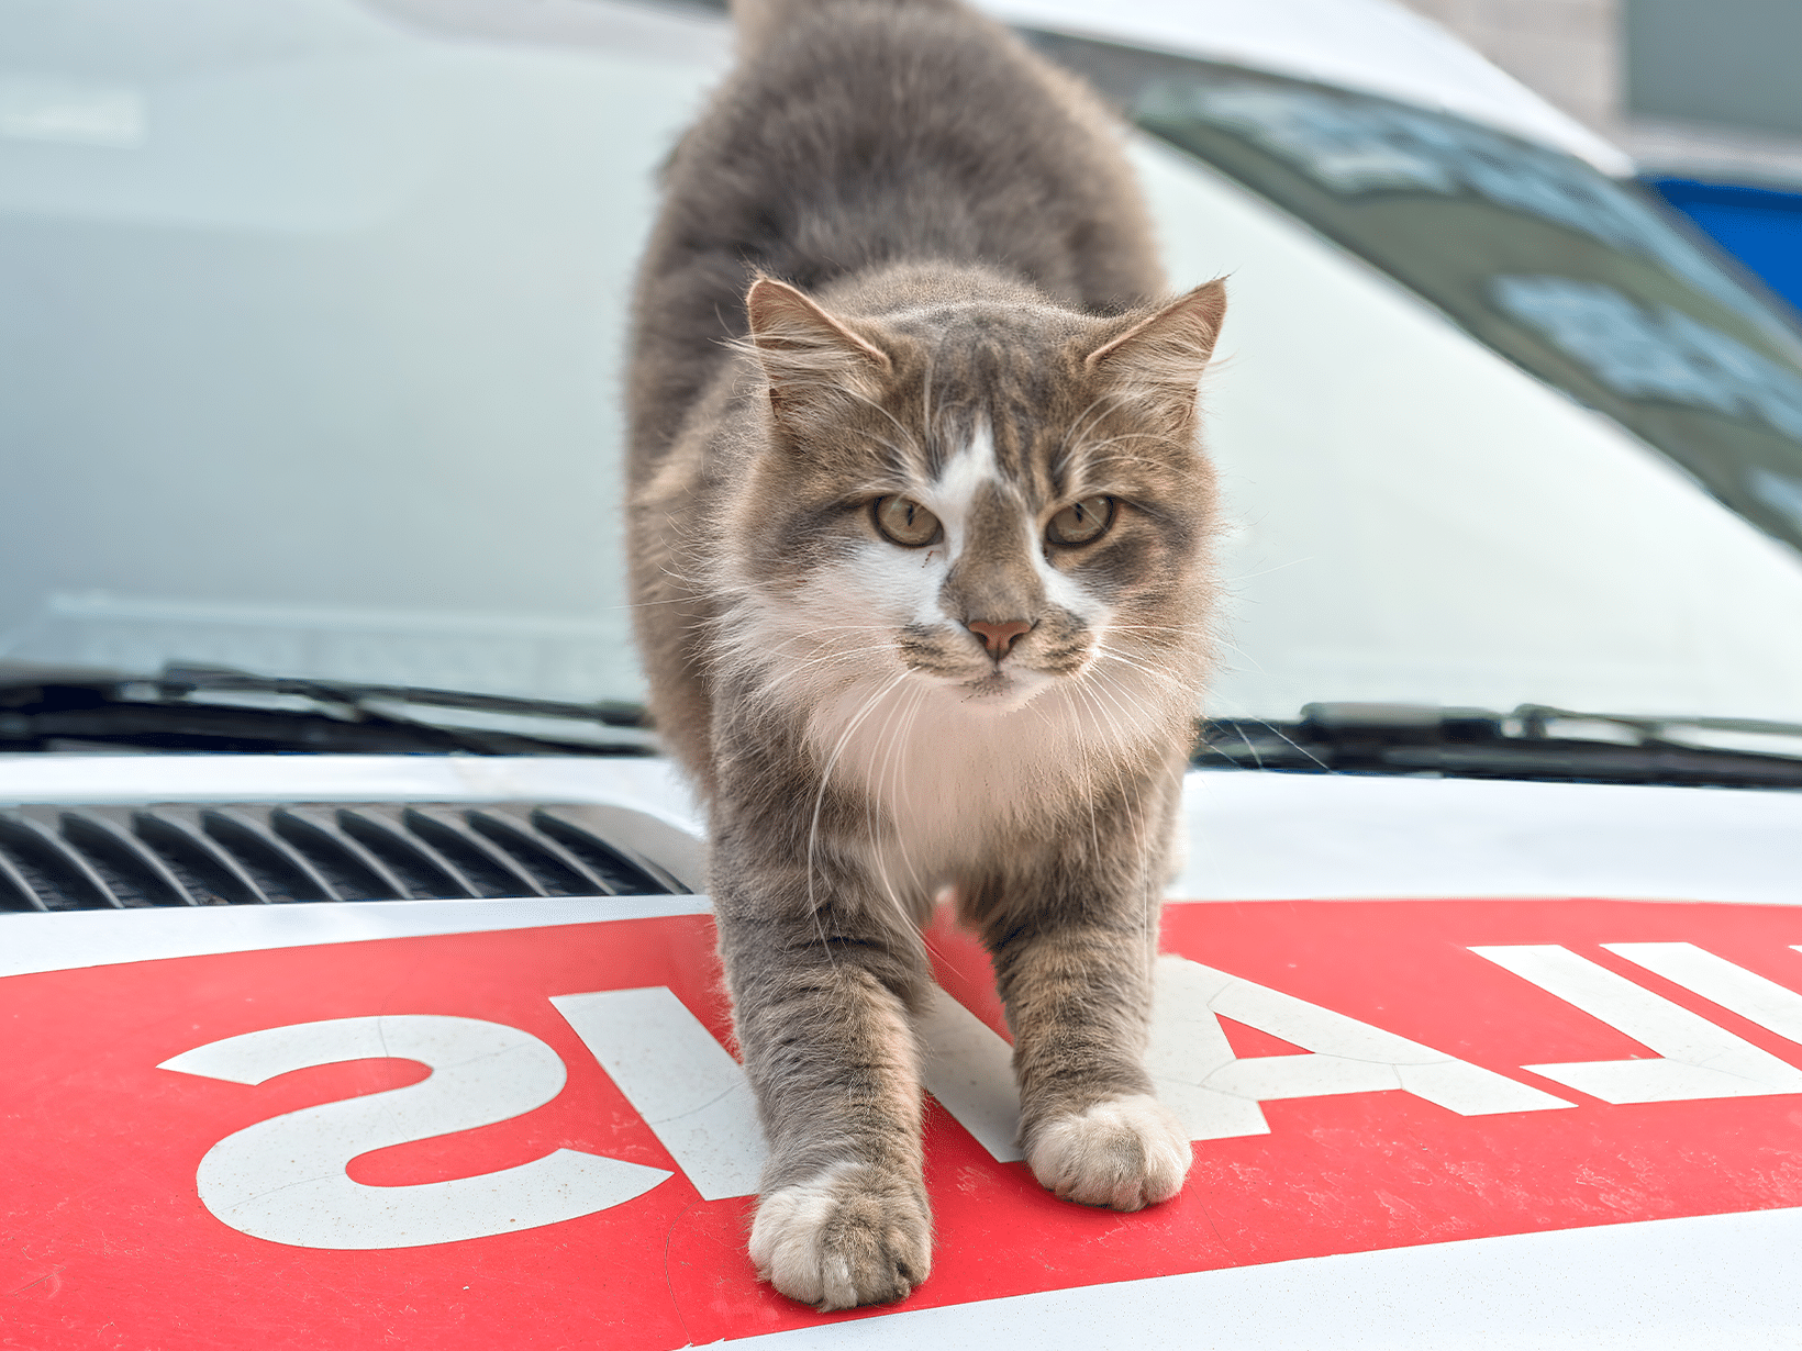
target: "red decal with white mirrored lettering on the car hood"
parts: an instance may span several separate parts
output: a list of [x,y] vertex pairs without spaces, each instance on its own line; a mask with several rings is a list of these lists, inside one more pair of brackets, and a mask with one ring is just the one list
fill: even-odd
[[[980,949],[946,926],[930,940],[944,987],[1004,1034]],[[1791,1092],[1802,1045],[1782,1034],[1802,1011],[1798,942],[1802,913],[1757,906],[1169,906],[1164,949],[1186,958],[1188,1027],[1218,1038],[1209,1054],[1224,1066],[1195,1074],[1206,1084],[1191,1086],[1189,1110],[1211,1124],[1182,1196],[1132,1216],[1065,1205],[930,1102],[937,1256],[896,1308],[1802,1205],[1802,1092]],[[661,994],[564,1000],[566,1012],[587,1011],[587,1039],[551,1003],[656,989],[679,1007]],[[645,1104],[663,1102],[667,1084],[647,1079],[629,1039],[607,1038],[605,1020],[627,1007],[687,1029],[694,1074],[732,1074],[694,1041],[705,1030],[730,1047],[705,919],[0,980],[0,1346],[652,1349],[881,1317],[820,1317],[757,1283],[744,1257],[751,1201],[730,1194],[746,1164],[715,1160],[703,1182],[719,1200],[706,1200],[681,1165],[699,1169],[703,1155],[640,1115],[658,1117]],[[1204,1029],[1193,1018],[1209,1009],[1218,1025]],[[395,1020],[400,1052],[359,1039],[378,1036],[378,1020]],[[1681,1061],[1696,1020],[1714,1029],[1708,1066]],[[1341,1056],[1357,1038],[1380,1054]],[[1179,1072],[1182,1052],[1162,1052]],[[490,1054],[521,1066],[492,1102],[485,1070],[469,1068]],[[613,1057],[618,1081],[596,1056]],[[1649,1061],[1667,1066],[1642,1072]],[[1355,1086],[1389,1063],[1400,1086]],[[420,1088],[431,1065],[436,1099]],[[1725,1095],[1701,1095],[1714,1092]],[[1667,1097],[1634,1101],[1649,1093]],[[359,1106],[364,1095],[384,1097]],[[496,1120],[503,1101],[519,1115]],[[283,1167],[306,1169],[268,1146],[305,1144],[306,1122],[337,1131],[319,1153],[337,1189],[321,1205],[348,1216],[332,1241],[364,1247],[252,1236],[326,1232],[268,1210],[258,1191],[258,1160],[274,1160],[270,1185],[310,1182],[283,1180]],[[369,1149],[375,1138],[398,1144]],[[546,1209],[533,1169],[562,1169],[559,1194],[580,1214]],[[488,1200],[431,1191],[470,1178]],[[368,1205],[382,1187],[396,1189],[393,1216]],[[521,1214],[494,1200],[515,1194]],[[476,1236],[434,1239],[450,1232]]]

